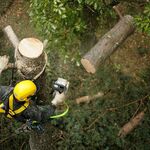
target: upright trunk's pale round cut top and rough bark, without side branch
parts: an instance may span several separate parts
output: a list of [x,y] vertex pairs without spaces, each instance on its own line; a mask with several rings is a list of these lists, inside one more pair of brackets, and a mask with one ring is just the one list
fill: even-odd
[[16,54],[16,66],[24,79],[37,79],[44,71],[47,55],[43,51],[43,43],[35,38],[20,41]]

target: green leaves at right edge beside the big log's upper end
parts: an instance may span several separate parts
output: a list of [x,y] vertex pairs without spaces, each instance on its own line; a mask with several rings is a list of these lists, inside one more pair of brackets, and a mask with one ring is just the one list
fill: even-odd
[[135,17],[135,23],[142,32],[150,34],[150,3],[146,5],[141,15]]

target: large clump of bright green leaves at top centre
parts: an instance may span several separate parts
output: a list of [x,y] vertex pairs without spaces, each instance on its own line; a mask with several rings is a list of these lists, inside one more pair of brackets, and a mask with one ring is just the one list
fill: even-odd
[[[112,15],[103,0],[31,0],[30,4],[32,23],[49,40],[49,49],[65,57],[68,51],[78,49],[77,37],[94,32],[93,23],[105,23]],[[77,51],[71,55],[80,56]]]

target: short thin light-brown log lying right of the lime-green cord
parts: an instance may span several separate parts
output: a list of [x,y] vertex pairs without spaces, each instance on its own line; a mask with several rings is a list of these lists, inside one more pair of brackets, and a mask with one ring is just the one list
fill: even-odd
[[102,97],[104,96],[103,92],[98,92],[96,95],[92,95],[92,96],[83,96],[83,97],[79,97],[76,99],[76,103],[80,104],[80,103],[89,103],[91,100],[94,100],[96,98]]

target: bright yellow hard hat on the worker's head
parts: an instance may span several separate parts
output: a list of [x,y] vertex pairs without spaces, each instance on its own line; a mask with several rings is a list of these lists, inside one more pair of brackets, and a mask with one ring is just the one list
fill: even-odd
[[31,80],[24,80],[14,87],[13,94],[18,101],[26,101],[35,94],[36,90],[36,85]]

